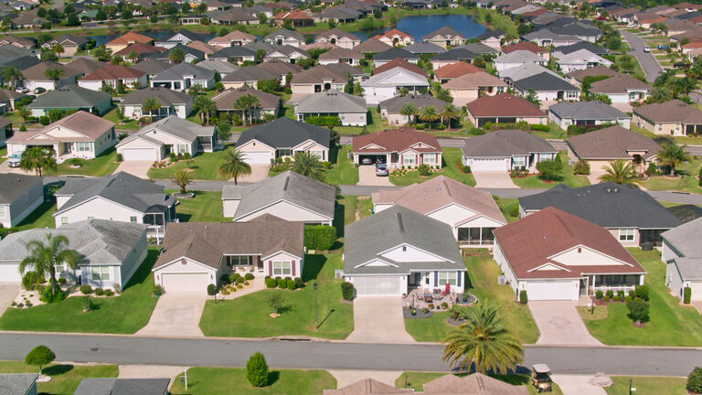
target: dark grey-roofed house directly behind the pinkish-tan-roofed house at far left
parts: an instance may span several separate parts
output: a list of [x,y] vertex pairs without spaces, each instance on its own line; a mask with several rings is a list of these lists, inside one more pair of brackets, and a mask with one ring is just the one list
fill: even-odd
[[78,85],[65,85],[48,91],[27,105],[32,116],[46,115],[49,110],[84,110],[102,115],[112,108],[110,93],[80,88]]

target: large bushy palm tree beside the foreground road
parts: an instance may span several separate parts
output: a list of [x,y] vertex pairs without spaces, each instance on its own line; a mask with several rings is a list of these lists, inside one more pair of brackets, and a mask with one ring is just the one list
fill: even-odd
[[463,370],[475,364],[478,373],[499,370],[505,374],[524,358],[519,339],[507,332],[497,309],[486,304],[473,307],[466,322],[446,334],[441,343],[445,345],[444,361],[458,364]]

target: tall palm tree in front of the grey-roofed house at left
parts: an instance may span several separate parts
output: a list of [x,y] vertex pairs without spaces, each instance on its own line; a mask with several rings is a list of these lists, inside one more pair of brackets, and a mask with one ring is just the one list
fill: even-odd
[[71,270],[76,270],[76,265],[82,262],[80,253],[69,250],[69,239],[63,235],[47,233],[46,244],[39,240],[27,242],[29,254],[19,262],[19,272],[34,270],[37,273],[48,274],[48,302],[54,301],[54,296],[60,293],[56,282],[56,265],[66,263]]

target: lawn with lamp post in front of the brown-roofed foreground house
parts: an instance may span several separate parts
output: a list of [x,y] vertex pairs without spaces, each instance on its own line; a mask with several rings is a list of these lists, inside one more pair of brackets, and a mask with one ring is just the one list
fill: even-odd
[[[354,329],[353,306],[341,302],[341,279],[334,278],[335,269],[343,269],[341,253],[305,255],[303,281],[298,291],[262,290],[237,299],[207,301],[200,319],[205,336],[317,336],[343,339]],[[318,284],[317,302],[319,329],[314,328],[314,288]],[[280,292],[285,308],[278,318],[271,318],[266,297]]]

